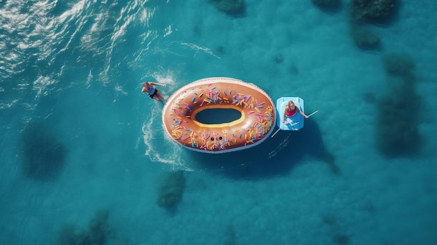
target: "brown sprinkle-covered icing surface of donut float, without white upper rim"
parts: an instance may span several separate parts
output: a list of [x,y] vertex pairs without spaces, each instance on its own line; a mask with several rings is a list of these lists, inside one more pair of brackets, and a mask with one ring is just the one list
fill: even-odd
[[[235,89],[232,91],[228,87]],[[258,87],[253,84],[249,87],[245,82],[237,87],[235,82],[232,82],[232,86],[226,86],[225,82],[191,85],[168,103],[167,110],[165,107],[163,112],[167,113],[163,114],[165,128],[173,140],[193,149],[225,151],[250,146],[264,139],[274,127],[276,112],[271,99]],[[245,114],[244,121],[232,127],[217,128],[195,124],[191,114],[210,105],[223,105],[239,110]]]

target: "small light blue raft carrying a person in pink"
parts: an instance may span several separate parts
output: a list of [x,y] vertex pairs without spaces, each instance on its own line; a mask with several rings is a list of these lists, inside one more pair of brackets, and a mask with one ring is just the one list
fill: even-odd
[[304,117],[300,113],[296,113],[292,117],[286,117],[286,123],[282,121],[283,112],[286,110],[286,106],[288,105],[288,101],[292,101],[295,103],[297,108],[304,112],[304,100],[299,97],[281,97],[276,101],[276,125],[285,131],[298,131],[299,129],[304,127]]

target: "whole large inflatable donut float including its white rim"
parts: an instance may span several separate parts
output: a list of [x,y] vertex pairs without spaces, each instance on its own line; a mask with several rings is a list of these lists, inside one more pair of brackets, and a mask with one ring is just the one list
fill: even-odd
[[[237,118],[216,123],[198,120],[199,113],[207,111],[212,113],[207,118],[223,115],[214,109],[233,109]],[[163,107],[163,126],[170,139],[207,153],[253,147],[269,137],[275,120],[274,103],[265,91],[228,77],[191,82],[172,94]]]

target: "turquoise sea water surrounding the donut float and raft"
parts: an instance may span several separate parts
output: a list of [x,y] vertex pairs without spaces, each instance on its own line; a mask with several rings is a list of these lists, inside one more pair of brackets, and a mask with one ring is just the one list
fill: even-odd
[[[437,4],[396,3],[362,49],[350,1],[0,1],[0,244],[436,244]],[[141,82],[216,76],[320,112],[182,149]]]

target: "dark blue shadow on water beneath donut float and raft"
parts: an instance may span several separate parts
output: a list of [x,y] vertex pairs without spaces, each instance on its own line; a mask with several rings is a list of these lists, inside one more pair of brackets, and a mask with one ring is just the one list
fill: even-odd
[[[276,129],[277,130],[277,129]],[[308,119],[300,131],[280,131],[255,147],[225,154],[205,154],[191,151],[197,161],[193,168],[221,173],[235,179],[260,179],[287,175],[305,156],[328,163],[338,175],[334,156],[325,149],[320,128]]]

